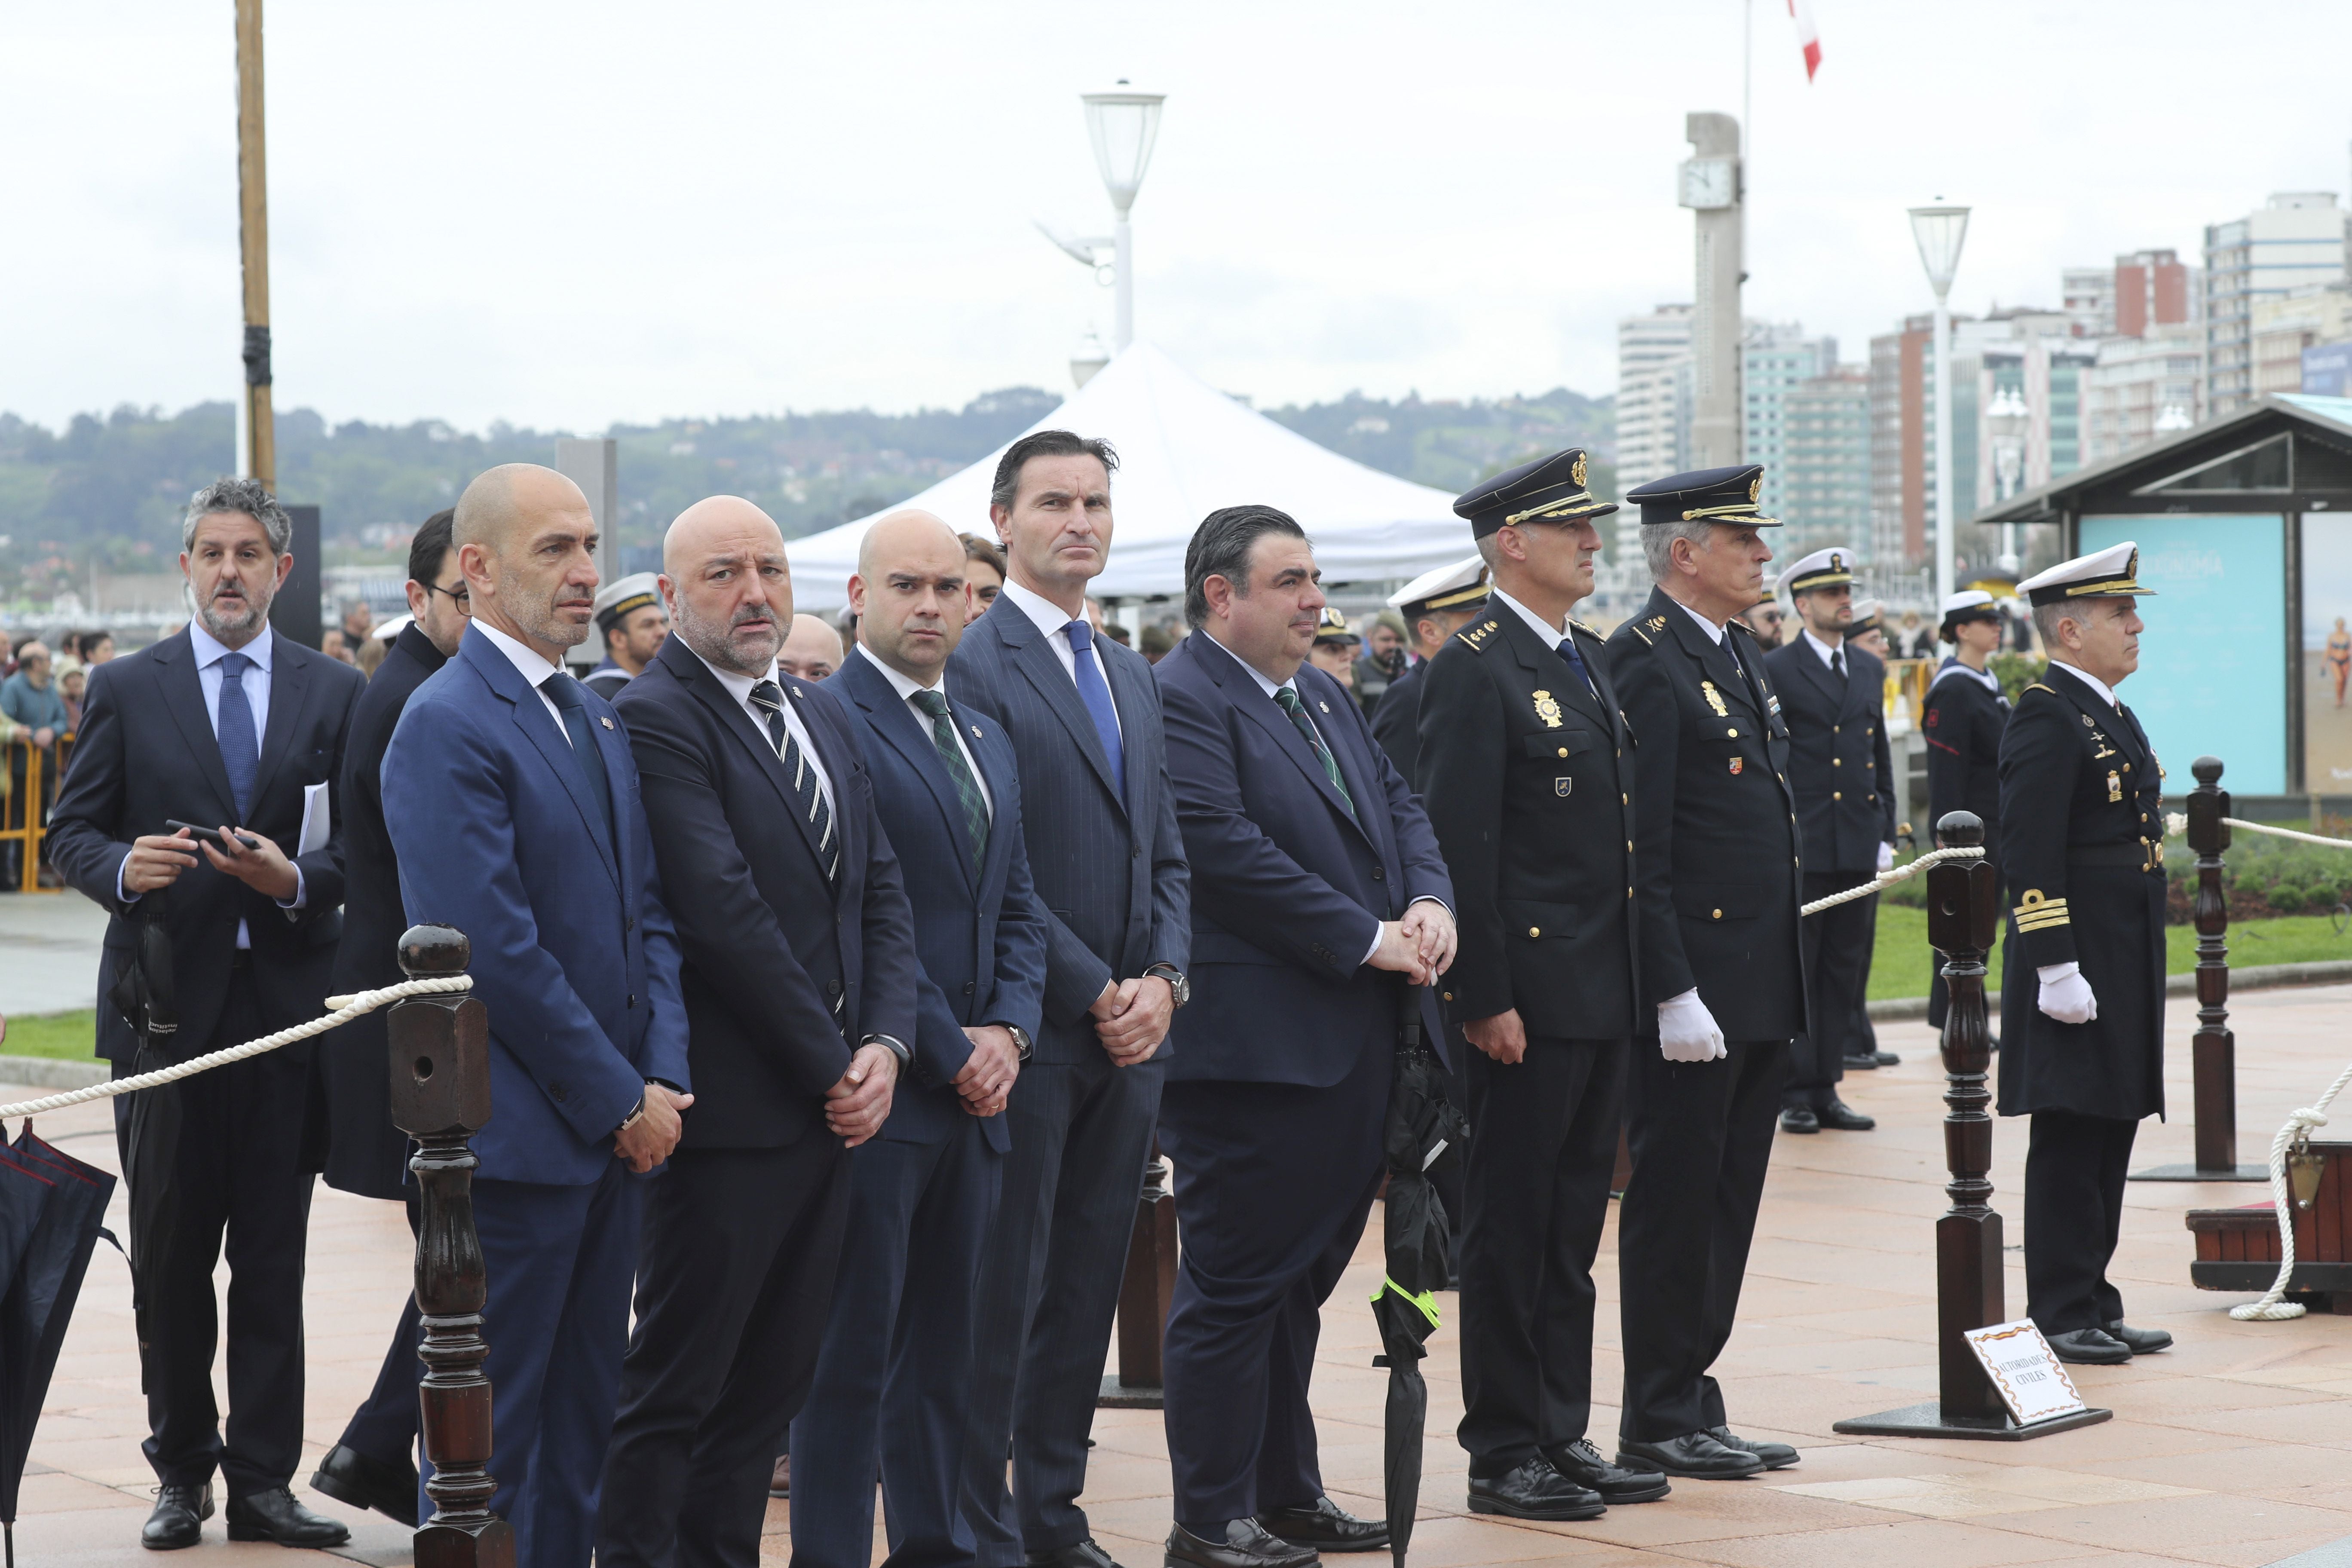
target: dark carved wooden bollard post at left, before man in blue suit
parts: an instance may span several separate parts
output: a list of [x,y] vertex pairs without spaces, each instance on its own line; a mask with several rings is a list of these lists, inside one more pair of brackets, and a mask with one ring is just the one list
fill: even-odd
[[[409,978],[466,973],[470,943],[449,926],[409,926],[400,969]],[[416,1229],[416,1309],[426,1363],[423,1413],[433,1519],[416,1530],[416,1568],[513,1568],[515,1533],[489,1512],[489,1378],[482,1375],[482,1302],[489,1269],[473,1227],[468,1138],[489,1121],[489,1009],[477,997],[409,997],[386,1020],[393,1126],[416,1140],[409,1171],[423,1194]]]

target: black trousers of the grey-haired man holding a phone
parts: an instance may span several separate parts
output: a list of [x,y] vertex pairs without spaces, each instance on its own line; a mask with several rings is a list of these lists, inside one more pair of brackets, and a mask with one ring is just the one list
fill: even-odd
[[[228,978],[221,1018],[198,1051],[226,1051],[268,1034],[254,971]],[[115,1063],[129,1077],[132,1060]],[[143,1448],[165,1486],[205,1486],[214,1472],[230,1497],[287,1486],[301,1462],[301,1281],[315,1161],[303,1159],[310,1060],[282,1051],[181,1079],[179,1150],[172,1164],[169,1246],[148,1267],[153,1338],[141,1354],[148,1396]],[[127,1140],[129,1095],[115,1100]],[[129,1150],[125,1150],[129,1164]],[[212,1272],[228,1248],[228,1429],[212,1396],[221,1326]]]

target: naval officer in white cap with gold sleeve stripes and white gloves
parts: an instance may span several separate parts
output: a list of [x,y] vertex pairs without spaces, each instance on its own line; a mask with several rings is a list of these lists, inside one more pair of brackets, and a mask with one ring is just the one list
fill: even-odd
[[2004,1117],[2025,1152],[2025,1312],[2060,1361],[2173,1335],[2124,1324],[2107,1281],[2140,1117],[2164,1114],[2164,769],[2114,686],[2140,668],[2131,543],[2018,583],[2049,672],[2002,736]]

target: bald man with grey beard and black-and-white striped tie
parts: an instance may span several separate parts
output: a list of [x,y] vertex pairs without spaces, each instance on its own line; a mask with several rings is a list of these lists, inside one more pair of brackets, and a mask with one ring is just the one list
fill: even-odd
[[[833,1302],[847,1150],[891,1114],[922,971],[863,748],[776,672],[793,576],[774,520],[696,501],[661,545],[661,592],[673,632],[621,717],[701,1105],[647,1206],[597,1563],[755,1568]],[[873,1495],[873,1448],[837,1458]]]

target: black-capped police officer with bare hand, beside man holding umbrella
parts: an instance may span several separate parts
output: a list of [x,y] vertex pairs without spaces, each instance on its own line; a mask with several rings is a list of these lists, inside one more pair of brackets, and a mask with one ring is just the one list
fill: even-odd
[[1463,1448],[1470,1512],[1592,1519],[1668,1490],[1585,1441],[1592,1255],[1639,1016],[1632,736],[1592,592],[1578,447],[1454,503],[1494,569],[1486,611],[1428,663],[1421,792],[1461,945],[1439,983],[1470,1088],[1463,1173]]

